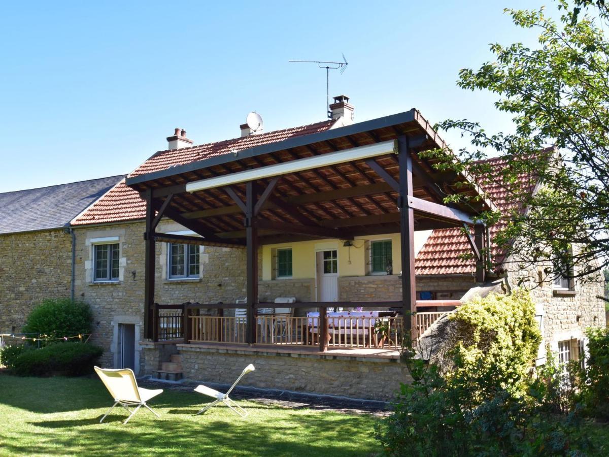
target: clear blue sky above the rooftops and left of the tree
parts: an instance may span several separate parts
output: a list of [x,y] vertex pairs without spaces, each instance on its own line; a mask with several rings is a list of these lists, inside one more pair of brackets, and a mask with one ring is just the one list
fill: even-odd
[[[504,7],[534,1],[9,2],[0,27],[0,192],[126,174],[183,127],[195,144],[325,118],[330,95],[356,121],[418,108],[509,130],[493,97],[456,87],[488,43],[531,42]],[[459,135],[444,135],[453,147]]]

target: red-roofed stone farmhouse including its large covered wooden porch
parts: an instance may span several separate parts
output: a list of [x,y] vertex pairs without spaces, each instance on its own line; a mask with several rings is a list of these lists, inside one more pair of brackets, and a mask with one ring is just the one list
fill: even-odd
[[[176,129],[72,219],[74,291],[93,308],[104,364],[228,382],[254,363],[253,386],[387,399],[407,380],[405,335],[523,276],[546,344],[577,359],[585,328],[605,325],[602,281],[516,271],[493,247],[497,227],[476,223],[510,205],[504,187],[475,199],[481,186],[421,158],[445,144],[417,110],[354,123],[347,97],[330,108],[327,121],[244,124],[199,146]],[[444,205],[450,193],[470,204]]]

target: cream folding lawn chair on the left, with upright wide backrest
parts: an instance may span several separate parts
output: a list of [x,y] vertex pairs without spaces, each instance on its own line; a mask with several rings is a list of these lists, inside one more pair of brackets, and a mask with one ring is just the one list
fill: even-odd
[[[138,383],[135,381],[135,374],[133,374],[133,370],[129,368],[111,370],[95,367],[95,372],[114,399],[114,405],[112,405],[112,408],[108,409],[108,412],[99,420],[99,423],[104,421],[106,416],[110,414],[110,411],[112,411],[116,405],[121,405],[123,408],[127,409],[128,413],[131,413],[125,422],[123,422],[124,424],[129,422],[129,419],[133,417],[133,414],[138,412],[138,409],[141,408],[141,406],[146,406],[146,408],[150,409],[152,414],[161,417],[155,413],[146,402],[153,397],[156,397],[158,394],[163,393],[163,389],[151,390],[138,387]],[[135,406],[135,409],[131,411],[129,406]]]

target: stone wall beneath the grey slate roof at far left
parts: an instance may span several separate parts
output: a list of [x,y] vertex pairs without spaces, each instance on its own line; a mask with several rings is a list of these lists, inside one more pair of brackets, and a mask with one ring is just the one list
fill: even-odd
[[47,298],[70,296],[72,237],[63,230],[0,235],[0,333],[20,332]]

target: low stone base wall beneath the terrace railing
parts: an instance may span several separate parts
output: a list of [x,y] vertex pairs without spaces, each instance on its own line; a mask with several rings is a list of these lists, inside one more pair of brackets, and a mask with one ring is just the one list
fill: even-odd
[[241,385],[358,399],[391,400],[400,383],[411,382],[398,358],[214,349],[178,344],[184,376],[202,383],[232,384],[252,363]]

